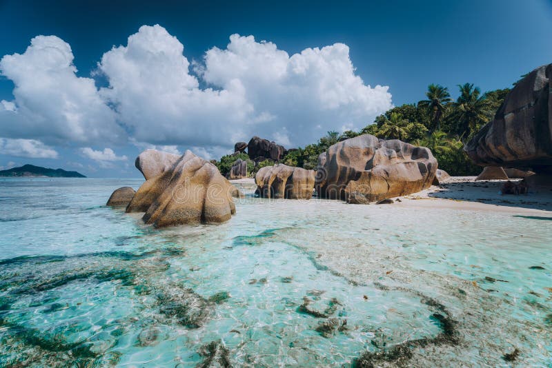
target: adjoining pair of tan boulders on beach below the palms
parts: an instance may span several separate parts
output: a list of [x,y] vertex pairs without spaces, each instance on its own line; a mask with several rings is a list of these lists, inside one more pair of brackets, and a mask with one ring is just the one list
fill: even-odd
[[370,203],[420,192],[436,172],[437,160],[427,148],[364,134],[320,154],[316,172],[278,164],[259,170],[255,182],[265,198],[311,198],[316,187],[320,198]]

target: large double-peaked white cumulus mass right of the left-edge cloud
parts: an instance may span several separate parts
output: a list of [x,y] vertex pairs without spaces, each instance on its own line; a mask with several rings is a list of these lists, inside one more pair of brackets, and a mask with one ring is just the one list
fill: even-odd
[[[288,145],[322,131],[363,127],[391,108],[388,87],[355,74],[347,45],[307,48],[289,56],[274,43],[233,34],[211,48],[195,76],[184,46],[159,25],[142,26],[126,46],[103,54],[110,83],[101,94],[137,141],[156,145],[230,147],[259,135]],[[211,88],[199,88],[198,78]]]

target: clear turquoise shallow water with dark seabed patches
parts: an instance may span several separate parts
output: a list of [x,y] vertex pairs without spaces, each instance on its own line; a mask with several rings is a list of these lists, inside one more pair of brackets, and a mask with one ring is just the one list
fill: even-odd
[[103,206],[140,184],[0,180],[0,366],[552,365],[549,219],[250,195],[157,230]]

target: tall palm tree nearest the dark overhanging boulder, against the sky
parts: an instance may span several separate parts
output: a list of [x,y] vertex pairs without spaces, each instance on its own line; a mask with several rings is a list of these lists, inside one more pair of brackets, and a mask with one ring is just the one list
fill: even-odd
[[491,101],[481,96],[481,90],[473,87],[473,83],[458,85],[460,96],[453,102],[451,119],[455,121],[456,132],[463,136],[475,133],[478,128],[489,121]]

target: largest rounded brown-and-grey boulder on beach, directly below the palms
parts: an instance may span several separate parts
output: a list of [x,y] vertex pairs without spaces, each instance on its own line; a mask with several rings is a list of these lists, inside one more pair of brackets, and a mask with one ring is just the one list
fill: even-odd
[[436,170],[428,148],[364,134],[332,145],[326,159],[319,157],[316,186],[322,198],[369,203],[420,192],[431,186]]

